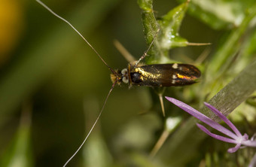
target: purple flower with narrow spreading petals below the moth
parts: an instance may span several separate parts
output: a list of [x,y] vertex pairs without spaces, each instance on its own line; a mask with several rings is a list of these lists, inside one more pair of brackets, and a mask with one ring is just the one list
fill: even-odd
[[239,130],[236,128],[236,126],[233,125],[233,123],[230,122],[230,120],[227,119],[227,117],[224,116],[220,111],[218,111],[215,107],[212,105],[209,105],[208,103],[204,103],[207,108],[209,108],[215,115],[221,118],[221,120],[224,120],[225,123],[227,123],[227,126],[230,126],[230,129],[233,130],[230,131],[229,129],[225,128],[224,126],[221,126],[219,123],[216,123],[214,120],[210,119],[209,117],[206,117],[206,115],[200,113],[200,111],[195,110],[194,108],[191,108],[189,105],[184,104],[184,102],[180,102],[176,99],[166,97],[169,102],[172,102],[174,105],[177,105],[182,110],[186,111],[188,114],[192,115],[193,117],[196,117],[198,120],[201,120],[203,123],[206,123],[207,125],[211,126],[213,129],[218,130],[219,132],[223,133],[224,135],[227,135],[227,137],[222,135],[216,135],[212,132],[210,132],[208,129],[206,129],[205,126],[201,125],[200,123],[197,123],[197,126],[203,130],[207,135],[212,136],[212,138],[216,138],[220,141],[225,141],[228,143],[236,144],[235,147],[231,147],[227,151],[229,153],[234,153],[236,150],[239,149],[241,146],[248,146],[248,147],[256,147],[256,141],[253,139],[248,139],[248,135],[245,133],[242,135]]

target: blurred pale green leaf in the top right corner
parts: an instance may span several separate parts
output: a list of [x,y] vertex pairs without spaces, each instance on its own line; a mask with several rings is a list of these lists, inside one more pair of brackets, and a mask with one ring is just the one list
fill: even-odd
[[242,23],[245,11],[254,5],[254,2],[254,0],[193,0],[188,11],[213,29],[230,29]]

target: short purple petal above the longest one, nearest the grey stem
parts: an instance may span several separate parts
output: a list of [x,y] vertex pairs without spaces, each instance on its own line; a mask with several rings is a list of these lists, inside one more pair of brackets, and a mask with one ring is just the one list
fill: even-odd
[[212,112],[214,112],[218,117],[220,117],[221,120],[224,120],[224,122],[227,123],[227,125],[230,126],[231,129],[233,129],[233,132],[235,132],[238,137],[242,137],[242,134],[239,132],[236,126],[234,126],[233,123],[231,123],[231,121],[224,116],[224,114],[222,114],[220,111],[218,111],[215,107],[213,107],[209,103],[204,102],[204,104],[206,105],[207,108],[209,108]]

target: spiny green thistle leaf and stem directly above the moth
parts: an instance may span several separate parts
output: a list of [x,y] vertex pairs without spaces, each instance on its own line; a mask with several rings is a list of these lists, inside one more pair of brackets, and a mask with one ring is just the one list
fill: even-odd
[[187,40],[178,35],[178,30],[187,10],[188,1],[169,11],[157,21],[154,15],[152,0],[139,0],[142,9],[142,23],[144,35],[148,46],[153,41],[157,30],[160,29],[157,39],[148,52],[146,62],[148,64],[173,62],[169,59],[169,50],[173,47],[187,46]]

